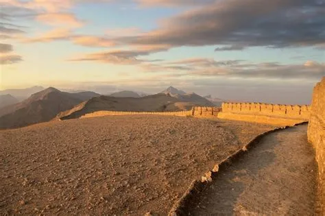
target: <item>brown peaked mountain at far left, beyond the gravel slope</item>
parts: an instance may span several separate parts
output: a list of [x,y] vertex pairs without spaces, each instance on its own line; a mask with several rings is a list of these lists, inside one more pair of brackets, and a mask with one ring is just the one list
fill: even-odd
[[46,88],[28,99],[0,109],[0,129],[19,128],[33,123],[49,121],[59,112],[69,110],[84,100],[98,94],[66,93],[56,88]]

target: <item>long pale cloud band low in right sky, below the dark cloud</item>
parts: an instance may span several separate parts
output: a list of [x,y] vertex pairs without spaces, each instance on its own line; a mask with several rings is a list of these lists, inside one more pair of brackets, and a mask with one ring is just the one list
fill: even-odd
[[277,62],[252,63],[243,60],[216,61],[209,58],[191,58],[160,64],[145,64],[145,71],[173,71],[178,76],[237,77],[263,80],[319,80],[325,75],[325,63],[307,61],[304,64]]

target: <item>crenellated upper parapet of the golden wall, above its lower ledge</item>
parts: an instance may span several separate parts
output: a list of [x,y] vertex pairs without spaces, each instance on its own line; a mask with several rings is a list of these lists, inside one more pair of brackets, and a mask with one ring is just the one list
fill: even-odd
[[222,112],[244,115],[261,115],[308,121],[311,107],[308,105],[284,105],[261,103],[222,103]]

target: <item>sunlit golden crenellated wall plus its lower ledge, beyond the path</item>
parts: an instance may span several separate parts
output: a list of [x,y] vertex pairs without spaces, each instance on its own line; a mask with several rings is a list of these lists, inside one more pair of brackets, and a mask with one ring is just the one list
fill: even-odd
[[309,106],[260,104],[260,103],[223,103],[220,119],[251,121],[272,125],[295,125],[308,121]]

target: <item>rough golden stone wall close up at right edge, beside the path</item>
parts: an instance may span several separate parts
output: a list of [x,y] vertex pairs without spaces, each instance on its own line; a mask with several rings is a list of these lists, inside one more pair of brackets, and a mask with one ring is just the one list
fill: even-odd
[[313,91],[311,119],[308,125],[308,140],[315,148],[320,180],[320,202],[325,215],[325,77]]

